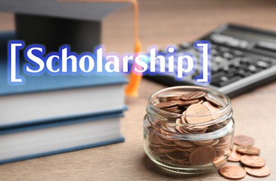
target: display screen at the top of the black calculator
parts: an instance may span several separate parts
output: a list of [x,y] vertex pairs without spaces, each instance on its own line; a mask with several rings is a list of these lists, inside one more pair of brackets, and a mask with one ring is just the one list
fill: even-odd
[[266,33],[258,33],[254,31],[246,31],[243,29],[235,29],[229,27],[222,31],[220,34],[225,36],[232,36],[241,40],[247,40],[249,42],[270,42],[276,44],[276,36],[268,35]]

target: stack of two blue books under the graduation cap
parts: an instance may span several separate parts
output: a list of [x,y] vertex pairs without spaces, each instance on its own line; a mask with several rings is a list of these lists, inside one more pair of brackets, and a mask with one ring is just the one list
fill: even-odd
[[[2,34],[0,47],[12,39]],[[124,141],[125,77],[24,75],[24,85],[12,86],[7,60],[1,51],[0,164]]]

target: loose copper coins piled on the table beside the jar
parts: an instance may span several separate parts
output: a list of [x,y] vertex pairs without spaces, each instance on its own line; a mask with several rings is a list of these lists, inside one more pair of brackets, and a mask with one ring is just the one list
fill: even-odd
[[241,162],[241,166],[227,165],[220,168],[220,174],[227,179],[241,179],[246,173],[253,177],[262,178],[270,175],[266,161],[259,157],[259,148],[254,147],[254,139],[250,136],[238,135],[234,137],[238,145],[228,158],[229,162]]

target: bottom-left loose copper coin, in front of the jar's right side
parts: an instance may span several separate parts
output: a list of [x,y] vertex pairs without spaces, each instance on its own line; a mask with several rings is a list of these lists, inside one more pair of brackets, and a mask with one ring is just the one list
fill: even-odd
[[238,180],[244,178],[246,172],[240,166],[227,165],[220,168],[220,174],[227,179]]

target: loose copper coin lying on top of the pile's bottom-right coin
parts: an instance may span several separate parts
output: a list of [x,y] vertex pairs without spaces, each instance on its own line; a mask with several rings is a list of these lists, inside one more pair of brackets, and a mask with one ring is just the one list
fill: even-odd
[[260,168],[265,166],[266,161],[261,157],[255,155],[243,155],[241,156],[241,163],[245,166],[253,167],[253,168]]

